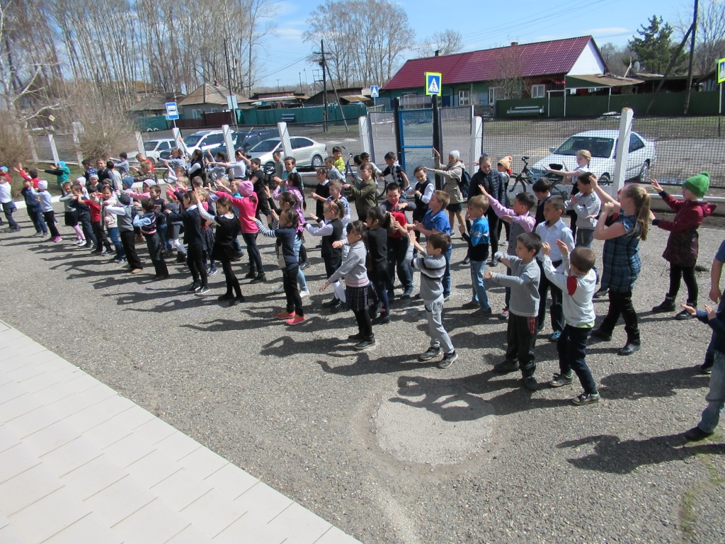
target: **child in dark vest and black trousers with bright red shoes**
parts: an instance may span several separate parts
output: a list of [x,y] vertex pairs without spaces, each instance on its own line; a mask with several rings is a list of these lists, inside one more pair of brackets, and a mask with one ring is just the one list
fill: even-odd
[[299,325],[307,319],[302,308],[302,297],[299,296],[297,289],[299,261],[294,242],[297,239],[299,215],[291,207],[281,210],[279,216],[272,211],[268,218],[268,221],[272,221],[272,228],[265,228],[262,221],[252,216],[249,216],[249,219],[254,221],[262,236],[277,239],[275,244],[277,262],[282,269],[284,294],[287,300],[286,310],[277,313],[277,318],[283,319],[288,325]]

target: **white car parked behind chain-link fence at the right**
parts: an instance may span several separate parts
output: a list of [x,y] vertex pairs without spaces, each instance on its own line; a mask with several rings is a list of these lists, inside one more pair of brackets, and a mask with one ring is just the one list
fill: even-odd
[[[549,165],[561,165],[563,170],[574,170],[576,168],[576,152],[579,149],[589,149],[592,154],[592,162],[589,162],[589,170],[597,175],[600,185],[608,185],[612,182],[614,164],[616,161],[617,140],[619,131],[597,130],[584,131],[569,136],[559,147],[552,147],[552,154],[547,155],[531,167],[529,176],[531,181],[538,181],[547,175],[546,168]],[[632,132],[629,136],[629,155],[627,155],[626,179],[636,179],[644,182],[650,173],[652,163],[655,161],[655,144]]]

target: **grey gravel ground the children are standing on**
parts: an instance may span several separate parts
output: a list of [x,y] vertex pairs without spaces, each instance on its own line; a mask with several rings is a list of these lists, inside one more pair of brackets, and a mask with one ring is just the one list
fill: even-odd
[[[460,360],[440,370],[416,359],[428,342],[419,302],[395,302],[376,348],[352,352],[352,314],[320,308],[324,268],[309,241],[310,321],[289,328],[273,319],[277,281],[244,281],[247,303],[224,308],[221,273],[212,296],[195,297],[186,268],[152,284],[150,264],[130,276],[30,238],[17,218],[20,233],[0,234],[0,318],[365,543],[725,541],[722,437],[682,439],[704,406],[695,364],[709,329],[649,312],[668,284],[664,231],[642,244],[642,350],[616,356],[621,326],[593,345],[602,401],[578,408],[578,385],[529,393],[492,372],[505,323],[460,308],[471,296],[460,238],[444,312]],[[709,265],[723,232],[701,233]],[[262,254],[277,279],[266,241]],[[698,279],[703,304],[708,273]],[[502,307],[500,287],[490,297]],[[540,382],[558,370],[545,337],[537,361]]]

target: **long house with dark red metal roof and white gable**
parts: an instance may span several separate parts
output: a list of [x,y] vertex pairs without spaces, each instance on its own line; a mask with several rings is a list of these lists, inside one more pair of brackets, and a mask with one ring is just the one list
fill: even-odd
[[[499,99],[562,96],[566,78],[605,75],[592,36],[539,41],[423,59],[411,59],[381,88],[381,98],[424,95],[425,73],[442,74],[442,105],[492,107]],[[568,88],[569,86],[567,86]]]

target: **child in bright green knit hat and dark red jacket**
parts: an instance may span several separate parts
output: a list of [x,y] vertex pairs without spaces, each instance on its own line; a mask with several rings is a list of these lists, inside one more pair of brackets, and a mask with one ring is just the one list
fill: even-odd
[[[660,194],[663,201],[675,211],[672,221],[655,218],[652,222],[665,231],[670,232],[667,247],[663,257],[670,263],[670,289],[665,295],[662,304],[655,306],[653,313],[672,312],[675,310],[675,297],[680,287],[680,280],[684,278],[687,285],[687,305],[697,308],[697,279],[695,278],[695,264],[697,263],[697,227],[715,210],[715,205],[705,202],[703,197],[710,188],[710,175],[703,172],[684,182],[682,197],[676,199],[665,191],[656,179],[652,186]],[[684,320],[692,318],[687,310],[682,310],[675,319]]]

